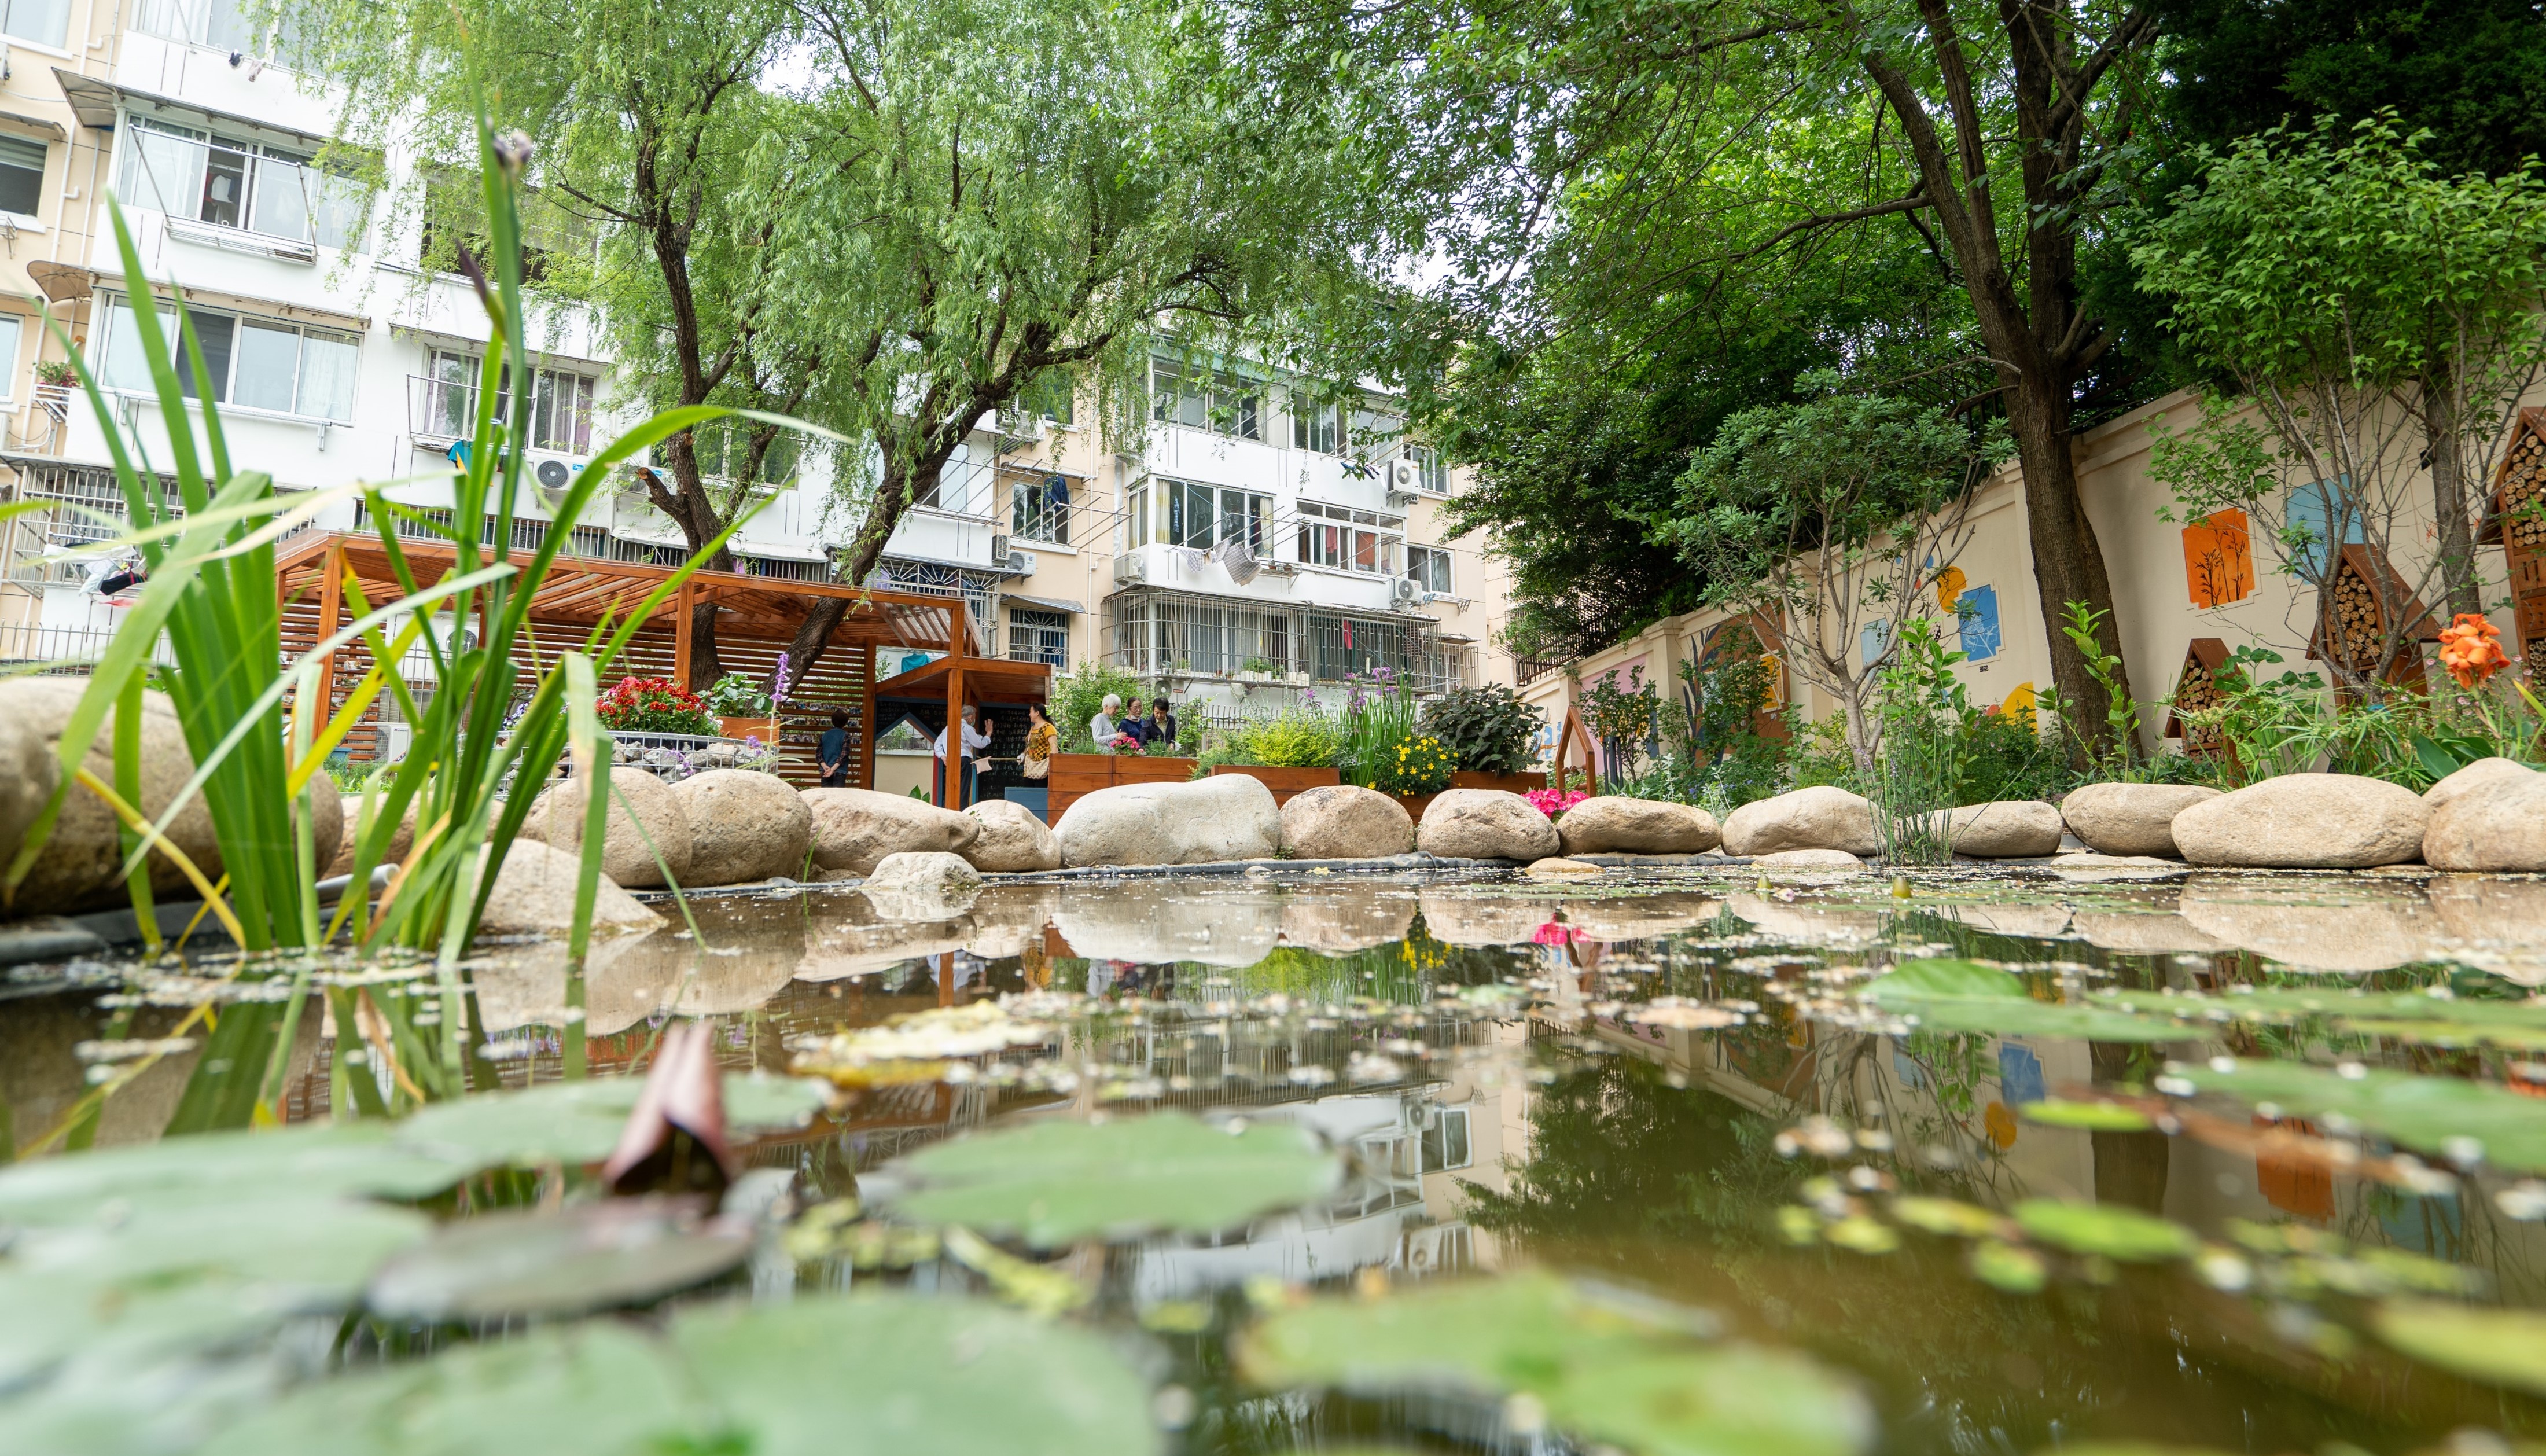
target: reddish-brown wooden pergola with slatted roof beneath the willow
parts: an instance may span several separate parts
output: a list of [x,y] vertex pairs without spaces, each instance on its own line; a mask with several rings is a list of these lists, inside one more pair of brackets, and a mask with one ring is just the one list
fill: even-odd
[[[397,542],[407,573],[430,585],[443,580],[456,563],[451,542],[423,537]],[[496,547],[486,547],[494,555]],[[514,550],[514,560],[527,552]],[[397,573],[374,535],[303,532],[275,547],[275,591],[285,601],[285,647],[298,639],[300,649],[334,636],[344,621],[344,580],[351,575],[362,585],[362,598],[379,608],[402,601]],[[672,578],[672,568],[639,565],[624,560],[598,560],[558,555],[547,578],[530,603],[532,639],[540,654],[578,647],[596,621],[624,621],[644,598]],[[1041,662],[1011,662],[983,652],[980,624],[967,619],[960,596],[919,596],[906,591],[876,591],[858,585],[787,580],[766,575],[741,575],[723,570],[693,573],[680,588],[647,613],[654,639],[670,636],[670,677],[690,680],[690,634],[695,608],[715,603],[715,641],[721,657],[774,662],[817,601],[845,598],[848,616],[830,634],[825,662],[840,657],[855,667],[855,685],[835,682],[861,692],[858,781],[876,784],[876,667],[886,649],[937,652],[937,662],[891,677],[891,697],[911,697],[919,690],[945,697],[947,720],[962,715],[965,703],[1044,703],[1051,692],[1051,667]],[[295,631],[295,619],[306,626]],[[547,629],[547,631],[542,631]],[[843,654],[845,649],[845,654]],[[367,662],[362,644],[341,647],[318,669],[318,687],[326,703],[336,703],[339,659]],[[659,662],[662,654],[657,652]],[[947,774],[947,807],[962,807],[962,774]]]

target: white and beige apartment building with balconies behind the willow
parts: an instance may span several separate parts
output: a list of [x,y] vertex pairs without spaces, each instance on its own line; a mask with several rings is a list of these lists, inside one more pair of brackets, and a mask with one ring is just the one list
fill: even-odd
[[[374,193],[326,171],[339,97],[295,74],[242,10],[0,8],[0,280],[13,293],[0,300],[0,466],[10,499],[59,501],[0,537],[0,659],[84,657],[130,601],[99,591],[115,563],[97,542],[122,517],[107,435],[59,379],[66,354],[20,295],[48,300],[81,344],[127,448],[163,476],[171,466],[109,191],[163,313],[165,285],[183,290],[232,461],[280,489],[405,481],[387,494],[448,501],[435,471],[474,417],[489,331],[474,290],[418,260],[433,219],[466,209],[466,193]],[[430,158],[384,163],[415,178]],[[614,415],[611,359],[583,311],[540,311],[530,336],[540,354],[514,545],[547,532],[550,504],[611,438]],[[1454,481],[1398,440],[1382,395],[1311,405],[1281,372],[1197,364],[1184,349],[1161,349],[1153,369],[1156,410],[1136,440],[1100,438],[1085,400],[985,417],[871,580],[965,596],[983,652],[1054,667],[1102,657],[1197,703],[1273,705],[1380,667],[1428,687],[1510,680],[1510,659],[1487,652],[1502,575],[1479,542],[1441,540]],[[827,580],[833,545],[858,524],[827,473],[812,463],[764,494],[736,542],[741,568]],[[369,529],[356,507],[318,524]],[[680,547],[634,481],[606,491],[568,542],[642,563]]]

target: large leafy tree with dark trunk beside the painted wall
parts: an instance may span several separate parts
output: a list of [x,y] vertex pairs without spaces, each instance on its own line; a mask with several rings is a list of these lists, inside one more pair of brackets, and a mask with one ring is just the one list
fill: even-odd
[[[1912,229],[1968,305],[2024,471],[2034,580],[2106,611],[2078,491],[2080,402],[2116,344],[2080,252],[2131,155],[2156,25],[2126,0],[1255,0],[1258,53],[1298,94],[1344,89],[1372,173],[1410,214],[1398,242],[1466,318],[1525,305],[1540,270],[1609,270],[1632,331],[1708,308],[1843,229]],[[1782,165],[1792,137],[1848,168]],[[1416,237],[1421,234],[1421,237]],[[1591,247],[1584,247],[1591,239]],[[1561,247],[1558,247],[1561,244]],[[1670,244],[1673,270],[1635,265]],[[2103,723],[2106,687],[2055,636],[2052,675]]]

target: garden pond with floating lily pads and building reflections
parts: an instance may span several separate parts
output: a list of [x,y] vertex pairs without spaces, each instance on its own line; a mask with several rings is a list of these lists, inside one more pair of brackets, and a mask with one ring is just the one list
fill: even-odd
[[2146,868],[31,965],[0,1451],[2510,1451],[2538,983],[2546,881]]

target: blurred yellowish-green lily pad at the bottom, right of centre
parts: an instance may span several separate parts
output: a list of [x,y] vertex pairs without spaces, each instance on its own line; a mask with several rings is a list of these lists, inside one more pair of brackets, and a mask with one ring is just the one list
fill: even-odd
[[1843,1456],[1874,1436],[1864,1400],[1810,1359],[1703,1344],[1678,1311],[1553,1275],[1324,1298],[1237,1341],[1263,1387],[1528,1395],[1551,1425],[1637,1456]]

